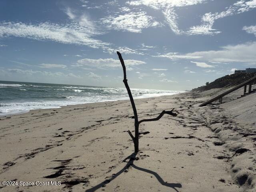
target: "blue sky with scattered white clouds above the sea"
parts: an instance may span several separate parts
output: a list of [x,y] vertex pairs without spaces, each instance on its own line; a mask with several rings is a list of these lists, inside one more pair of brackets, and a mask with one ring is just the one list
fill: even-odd
[[256,68],[256,0],[1,0],[0,80],[190,90]]

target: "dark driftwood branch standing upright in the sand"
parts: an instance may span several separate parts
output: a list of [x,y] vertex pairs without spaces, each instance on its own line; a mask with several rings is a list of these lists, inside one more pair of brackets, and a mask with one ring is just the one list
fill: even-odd
[[135,153],[138,153],[139,152],[139,125],[140,123],[142,122],[145,122],[145,121],[157,121],[159,120],[164,114],[168,114],[168,115],[172,115],[172,116],[177,116],[176,113],[173,113],[172,110],[170,111],[165,111],[163,110],[159,115],[158,117],[156,118],[152,118],[152,119],[144,119],[144,120],[140,120],[138,121],[138,114],[137,114],[137,110],[136,110],[136,106],[135,106],[135,103],[134,103],[134,100],[133,100],[133,97],[132,97],[132,92],[130,90],[130,87],[128,85],[128,82],[127,82],[127,79],[126,79],[126,68],[125,68],[125,65],[124,65],[124,60],[122,58],[122,55],[120,54],[120,52],[116,52],[118,54],[118,57],[119,57],[119,60],[122,64],[122,67],[123,67],[123,71],[124,71],[124,85],[126,87],[126,90],[128,92],[128,95],[129,95],[129,98],[130,98],[130,102],[132,104],[132,109],[133,109],[133,113],[134,113],[134,127],[135,127],[135,137],[132,135],[132,133],[130,132],[130,130],[128,130],[128,133],[130,135],[130,137],[132,138],[133,140],[133,143],[134,143],[134,152]]

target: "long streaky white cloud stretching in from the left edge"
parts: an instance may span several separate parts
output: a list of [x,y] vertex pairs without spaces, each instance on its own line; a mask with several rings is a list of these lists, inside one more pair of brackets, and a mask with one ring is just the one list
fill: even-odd
[[92,48],[106,48],[109,45],[108,43],[91,37],[95,33],[77,22],[65,25],[48,22],[39,24],[0,23],[0,38],[15,36],[34,40],[50,40],[64,44],[86,45]]

